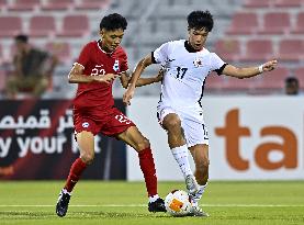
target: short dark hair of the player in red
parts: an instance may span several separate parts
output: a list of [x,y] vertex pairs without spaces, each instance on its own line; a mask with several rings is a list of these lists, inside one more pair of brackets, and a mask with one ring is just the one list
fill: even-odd
[[124,31],[126,26],[126,19],[119,13],[109,14],[100,22],[100,30],[105,29],[106,31],[115,31],[122,29]]

